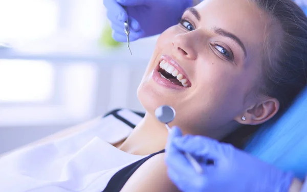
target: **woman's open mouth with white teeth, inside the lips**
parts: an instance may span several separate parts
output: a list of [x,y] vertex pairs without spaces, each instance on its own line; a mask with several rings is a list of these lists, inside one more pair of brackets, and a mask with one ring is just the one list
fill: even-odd
[[189,87],[187,78],[185,78],[174,66],[164,60],[161,61],[159,66],[158,72],[162,78],[167,79],[173,84]]

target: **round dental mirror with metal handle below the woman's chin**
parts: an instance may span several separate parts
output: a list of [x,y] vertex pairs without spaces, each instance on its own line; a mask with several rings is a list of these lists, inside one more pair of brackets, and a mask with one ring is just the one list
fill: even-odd
[[[169,132],[170,128],[167,124],[173,121],[173,119],[176,116],[176,111],[168,105],[162,105],[156,109],[155,115],[161,123],[165,124],[166,129]],[[184,153],[184,155],[186,156],[188,161],[191,163],[191,165],[194,167],[194,170],[196,171],[196,173],[202,174],[203,169],[201,165],[194,159],[194,157],[189,153]]]

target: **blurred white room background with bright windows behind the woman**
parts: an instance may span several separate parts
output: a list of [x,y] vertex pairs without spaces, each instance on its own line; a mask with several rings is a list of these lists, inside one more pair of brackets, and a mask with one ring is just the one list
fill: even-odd
[[107,49],[101,0],[0,0],[0,153],[114,108],[136,90],[157,37]]

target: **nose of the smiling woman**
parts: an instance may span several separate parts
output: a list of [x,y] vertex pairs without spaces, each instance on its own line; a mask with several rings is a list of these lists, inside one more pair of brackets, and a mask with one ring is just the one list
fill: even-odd
[[188,34],[179,34],[173,39],[172,45],[182,57],[195,60],[197,58],[197,52],[195,50],[194,38]]

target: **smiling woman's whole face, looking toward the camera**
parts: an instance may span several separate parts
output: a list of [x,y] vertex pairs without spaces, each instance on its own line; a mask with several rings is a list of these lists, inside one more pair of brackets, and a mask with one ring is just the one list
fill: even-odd
[[157,41],[138,89],[146,111],[170,105],[172,125],[193,134],[239,122],[258,102],[246,96],[260,77],[267,18],[246,0],[205,0],[188,9]]

